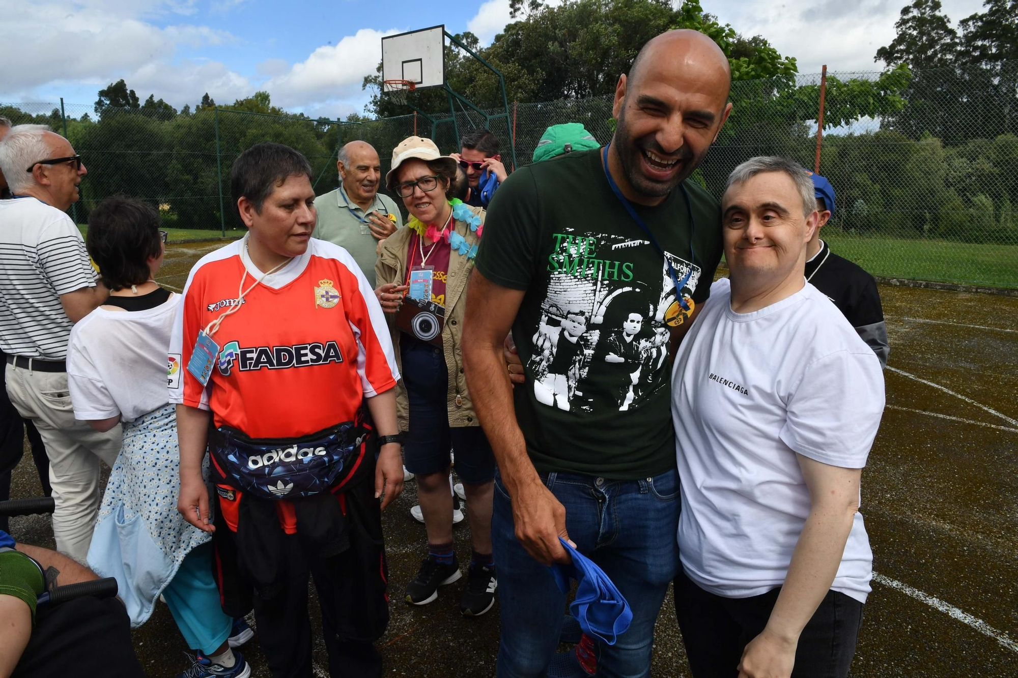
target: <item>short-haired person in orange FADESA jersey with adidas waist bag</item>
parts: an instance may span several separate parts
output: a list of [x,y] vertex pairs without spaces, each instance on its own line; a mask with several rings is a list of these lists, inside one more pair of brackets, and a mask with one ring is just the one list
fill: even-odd
[[380,509],[403,487],[398,374],[363,274],[345,249],[310,237],[310,172],[279,144],[233,164],[248,233],[191,270],[170,345],[170,360],[186,366],[169,380],[177,508],[214,532],[224,611],[253,608],[273,676],[312,675],[308,575],[332,675],[381,676],[372,644],[388,622]]

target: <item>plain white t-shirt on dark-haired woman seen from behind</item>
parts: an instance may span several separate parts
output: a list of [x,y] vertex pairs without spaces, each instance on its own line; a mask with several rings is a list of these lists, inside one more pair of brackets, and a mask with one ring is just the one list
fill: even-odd
[[120,414],[133,421],[165,405],[167,383],[180,379],[167,365],[179,294],[147,310],[96,308],[74,326],[67,348],[67,385],[74,418]]

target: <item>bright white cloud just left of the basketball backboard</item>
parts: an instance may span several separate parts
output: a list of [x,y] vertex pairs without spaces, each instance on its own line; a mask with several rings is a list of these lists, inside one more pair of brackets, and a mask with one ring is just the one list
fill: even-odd
[[400,33],[361,29],[335,45],[325,45],[295,63],[289,72],[270,78],[260,90],[272,94],[277,106],[310,106],[322,102],[362,98],[360,84],[375,73],[382,59],[382,37]]

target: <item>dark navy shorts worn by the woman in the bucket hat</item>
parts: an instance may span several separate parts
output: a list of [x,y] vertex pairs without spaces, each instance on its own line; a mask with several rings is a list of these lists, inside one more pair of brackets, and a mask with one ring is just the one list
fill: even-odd
[[399,338],[403,386],[410,404],[409,431],[403,439],[406,469],[411,473],[440,473],[456,455],[456,473],[467,485],[495,477],[495,455],[480,427],[450,427],[446,394],[449,373],[441,348],[407,334]]

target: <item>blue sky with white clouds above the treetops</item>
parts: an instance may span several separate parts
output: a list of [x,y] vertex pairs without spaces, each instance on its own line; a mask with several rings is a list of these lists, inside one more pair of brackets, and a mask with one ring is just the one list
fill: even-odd
[[[681,0],[675,0],[680,2]],[[800,73],[872,71],[905,0],[701,0],[744,36],[761,35]],[[943,0],[954,25],[980,0]],[[0,102],[91,109],[124,78],[176,108],[206,92],[220,104],[259,90],[319,117],[362,112],[363,77],[386,35],[445,23],[488,45],[510,21],[509,0],[0,0]]]

